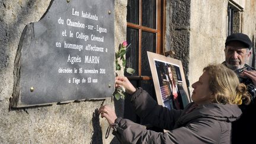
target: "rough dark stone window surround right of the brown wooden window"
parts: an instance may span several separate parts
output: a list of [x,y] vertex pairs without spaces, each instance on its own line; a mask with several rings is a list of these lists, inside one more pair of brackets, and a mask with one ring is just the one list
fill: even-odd
[[165,12],[166,55],[182,60],[187,76],[190,49],[190,0],[166,1]]

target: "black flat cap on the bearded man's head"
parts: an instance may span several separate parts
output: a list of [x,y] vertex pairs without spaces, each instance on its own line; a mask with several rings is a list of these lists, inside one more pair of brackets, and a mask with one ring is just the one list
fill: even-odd
[[245,44],[246,48],[251,49],[251,40],[246,34],[243,33],[232,33],[227,37],[225,46],[227,46],[231,41],[240,41]]

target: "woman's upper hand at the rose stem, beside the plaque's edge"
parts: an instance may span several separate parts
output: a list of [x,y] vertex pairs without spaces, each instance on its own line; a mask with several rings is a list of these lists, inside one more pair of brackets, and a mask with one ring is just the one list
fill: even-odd
[[133,94],[136,88],[130,83],[130,81],[125,76],[116,77],[116,87],[124,87],[128,94]]

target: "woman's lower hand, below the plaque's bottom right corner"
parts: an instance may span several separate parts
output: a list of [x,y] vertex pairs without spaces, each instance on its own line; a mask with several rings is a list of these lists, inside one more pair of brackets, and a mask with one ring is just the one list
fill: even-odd
[[101,118],[105,117],[109,124],[113,124],[117,119],[115,111],[108,105],[101,106],[98,113],[101,115]]

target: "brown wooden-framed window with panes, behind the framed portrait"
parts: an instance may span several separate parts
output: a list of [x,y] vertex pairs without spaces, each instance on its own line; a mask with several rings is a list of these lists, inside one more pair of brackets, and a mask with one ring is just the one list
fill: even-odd
[[[124,75],[135,87],[142,87],[153,98],[155,98],[155,91],[146,52],[162,53],[164,2],[164,0],[127,1],[126,40],[131,45],[126,50],[126,67],[135,69],[135,73],[130,75],[125,72]],[[124,109],[127,107],[129,105],[125,104]],[[129,113],[129,110],[124,110],[124,115]],[[131,117],[127,116],[127,118],[138,122]]]

